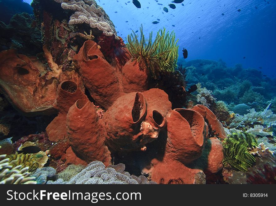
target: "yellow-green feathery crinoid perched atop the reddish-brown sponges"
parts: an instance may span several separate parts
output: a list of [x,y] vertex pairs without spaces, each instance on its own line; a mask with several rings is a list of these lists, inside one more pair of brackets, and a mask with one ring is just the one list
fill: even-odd
[[178,59],[178,46],[176,45],[178,40],[175,41],[175,33],[166,33],[165,28],[159,30],[153,42],[152,32],[149,35],[149,40],[146,41],[142,24],[140,33],[140,41],[134,31],[128,35],[126,46],[132,55],[132,60],[137,61],[141,69],[149,69],[154,79],[156,79],[156,69],[174,71]]

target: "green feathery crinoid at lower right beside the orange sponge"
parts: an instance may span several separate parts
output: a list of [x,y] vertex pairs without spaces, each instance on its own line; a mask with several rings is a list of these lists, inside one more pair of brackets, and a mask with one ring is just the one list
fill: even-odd
[[230,164],[238,171],[246,172],[255,163],[255,158],[247,151],[246,140],[227,138],[223,142],[225,149],[223,164]]

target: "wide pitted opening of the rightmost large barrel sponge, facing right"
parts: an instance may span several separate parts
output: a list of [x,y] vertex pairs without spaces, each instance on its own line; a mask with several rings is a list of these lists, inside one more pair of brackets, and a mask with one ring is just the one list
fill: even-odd
[[190,125],[192,136],[198,145],[203,145],[204,137],[202,131],[205,127],[204,118],[196,111],[190,109],[176,109]]

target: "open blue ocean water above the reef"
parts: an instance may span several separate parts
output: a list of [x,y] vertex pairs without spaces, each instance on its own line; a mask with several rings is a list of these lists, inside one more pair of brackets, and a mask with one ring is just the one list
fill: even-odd
[[[262,67],[260,71],[264,74],[276,76],[275,1],[185,0],[183,5],[176,3],[175,9],[168,7],[171,3],[168,0],[140,0],[139,9],[127,0],[97,0],[97,3],[125,42],[131,30],[139,30],[141,24],[144,34],[151,31],[156,34],[165,27],[167,31],[174,30],[179,38],[179,58],[183,58],[181,50],[185,47],[186,61],[222,59],[228,67],[236,64],[244,68]],[[163,7],[168,8],[168,13]],[[152,24],[153,21],[159,23]]]

